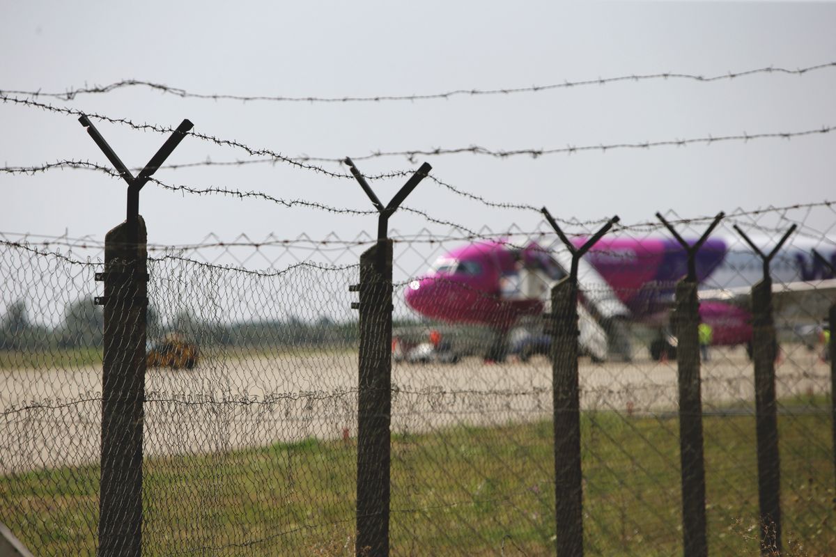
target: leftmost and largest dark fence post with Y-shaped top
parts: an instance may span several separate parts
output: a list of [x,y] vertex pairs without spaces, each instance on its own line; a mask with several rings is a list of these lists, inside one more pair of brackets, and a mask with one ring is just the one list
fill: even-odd
[[104,239],[99,557],[142,554],[142,435],[145,402],[147,233],[140,190],[191,129],[180,126],[134,177],[86,116],[79,122],[128,183],[127,218]]

